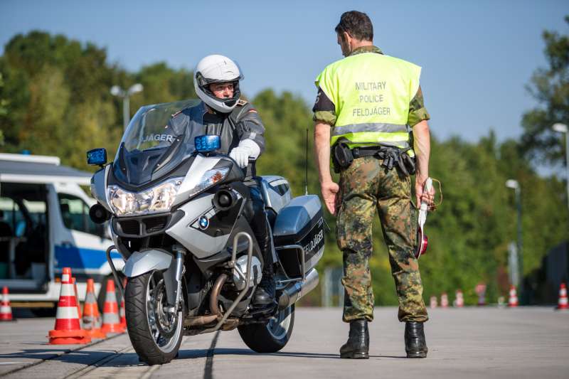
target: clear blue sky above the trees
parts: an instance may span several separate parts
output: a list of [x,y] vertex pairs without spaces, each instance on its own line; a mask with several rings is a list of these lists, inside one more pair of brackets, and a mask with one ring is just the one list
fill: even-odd
[[[1,51],[16,33],[40,29],[107,48],[138,70],[159,60],[193,68],[204,55],[238,60],[243,88],[289,90],[311,104],[319,71],[341,58],[334,26],[365,11],[374,42],[422,66],[422,89],[441,139],[519,137],[537,105],[525,85],[546,65],[544,29],[569,34],[569,1],[0,1]],[[307,120],[309,122],[309,120]],[[270,127],[270,126],[268,126]]]

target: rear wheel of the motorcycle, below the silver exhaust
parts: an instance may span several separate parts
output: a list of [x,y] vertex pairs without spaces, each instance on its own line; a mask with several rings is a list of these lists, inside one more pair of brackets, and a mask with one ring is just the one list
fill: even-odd
[[294,326],[294,304],[279,311],[265,324],[238,326],[239,335],[245,345],[257,353],[275,353],[284,348],[292,335]]

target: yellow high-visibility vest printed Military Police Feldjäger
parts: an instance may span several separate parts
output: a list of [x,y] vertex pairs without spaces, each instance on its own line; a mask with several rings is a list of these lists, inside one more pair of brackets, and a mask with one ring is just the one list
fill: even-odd
[[420,74],[418,65],[378,53],[358,53],[324,68],[315,83],[336,106],[331,145],[344,137],[350,148],[413,147],[407,121]]

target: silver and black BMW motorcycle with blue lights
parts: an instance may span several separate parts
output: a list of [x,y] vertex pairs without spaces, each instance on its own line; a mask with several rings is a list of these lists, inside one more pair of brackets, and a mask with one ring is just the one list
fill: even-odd
[[[110,221],[107,260],[124,294],[129,338],[141,361],[168,363],[183,336],[238,329],[253,351],[282,349],[294,326],[294,304],[318,284],[324,252],[319,198],[292,198],[280,176],[256,179],[265,200],[275,262],[274,304],[254,306],[262,277],[260,247],[243,210],[250,201],[243,169],[216,154],[218,136],[203,127],[178,130],[170,119],[198,104],[142,107],[124,132],[115,160],[87,152],[101,166],[91,180],[97,223]],[[112,251],[124,260],[118,272]],[[119,276],[127,278],[125,288]]]

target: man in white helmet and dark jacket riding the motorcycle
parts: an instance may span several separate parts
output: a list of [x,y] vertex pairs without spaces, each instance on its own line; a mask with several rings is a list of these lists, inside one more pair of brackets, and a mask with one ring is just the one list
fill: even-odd
[[246,169],[245,184],[250,199],[245,209],[264,260],[262,279],[253,297],[253,304],[272,304],[275,280],[270,249],[270,226],[265,213],[255,162],[265,149],[265,127],[252,105],[240,99],[243,73],[237,63],[223,55],[208,55],[194,70],[193,85],[201,103],[174,114],[172,122],[187,127],[190,122],[203,125],[203,134],[220,137],[220,154],[228,154],[241,169]]

